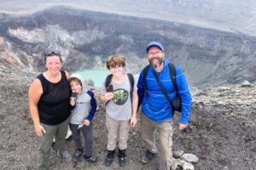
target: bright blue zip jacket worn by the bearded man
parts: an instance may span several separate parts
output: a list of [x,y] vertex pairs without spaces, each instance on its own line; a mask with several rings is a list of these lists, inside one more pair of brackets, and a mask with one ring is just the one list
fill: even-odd
[[[172,80],[170,77],[170,71],[168,68],[168,59],[164,59],[164,68],[157,76],[160,79],[160,83],[166,89],[170,99],[176,97],[176,91],[174,91]],[[189,86],[180,67],[175,65],[176,70],[176,83],[177,92],[181,97],[182,102],[182,114],[179,122],[187,124],[189,122],[189,112],[191,107],[191,94],[189,93]],[[172,105],[168,102],[165,95],[161,91],[158,83],[156,82],[153,74],[154,68],[152,66],[148,69],[147,76],[147,88],[148,97],[144,96],[144,83],[143,83],[143,71],[140,73],[140,77],[137,82],[137,93],[139,96],[139,106],[142,104],[142,111],[145,116],[155,122],[166,122],[172,119]]]

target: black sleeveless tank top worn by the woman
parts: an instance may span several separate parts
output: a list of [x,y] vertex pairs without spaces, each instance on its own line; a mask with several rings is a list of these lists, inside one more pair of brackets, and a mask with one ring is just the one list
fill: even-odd
[[67,120],[69,111],[69,88],[65,71],[61,71],[60,82],[49,82],[43,73],[37,77],[42,83],[43,94],[38,102],[40,122],[57,125]]

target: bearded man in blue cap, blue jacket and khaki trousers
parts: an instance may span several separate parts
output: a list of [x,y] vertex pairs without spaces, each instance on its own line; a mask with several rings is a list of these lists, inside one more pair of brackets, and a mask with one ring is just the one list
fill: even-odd
[[[137,82],[139,105],[142,104],[142,133],[148,150],[142,158],[143,163],[152,160],[156,153],[159,155],[160,170],[171,169],[172,164],[172,105],[163,94],[154,74],[159,77],[160,84],[165,88],[167,95],[172,100],[176,97],[173,88],[169,60],[165,58],[165,51],[160,42],[150,42],[147,46],[148,61],[150,67],[146,78],[143,79],[143,71]],[[177,93],[181,98],[182,113],[179,119],[178,129],[188,126],[191,94],[189,86],[181,68],[175,66]],[[147,92],[145,93],[145,83]],[[157,148],[155,132],[160,135],[160,144]]]

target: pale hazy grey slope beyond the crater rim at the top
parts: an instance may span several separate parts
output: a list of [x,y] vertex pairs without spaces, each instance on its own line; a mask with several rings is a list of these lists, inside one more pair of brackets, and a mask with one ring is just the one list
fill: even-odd
[[50,6],[67,5],[256,36],[254,0],[247,0],[246,3],[236,0],[112,0],[111,3],[109,0],[0,0],[0,3],[0,11],[5,14],[32,14]]

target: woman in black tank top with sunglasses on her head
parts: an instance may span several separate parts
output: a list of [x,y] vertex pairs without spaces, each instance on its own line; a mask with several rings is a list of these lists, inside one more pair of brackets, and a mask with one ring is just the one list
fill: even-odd
[[28,89],[29,109],[35,132],[42,141],[37,153],[38,169],[48,169],[49,151],[53,139],[58,156],[72,161],[65,150],[65,137],[69,122],[69,88],[67,71],[61,71],[61,55],[55,52],[44,55],[46,71],[36,77]]

